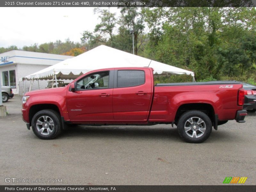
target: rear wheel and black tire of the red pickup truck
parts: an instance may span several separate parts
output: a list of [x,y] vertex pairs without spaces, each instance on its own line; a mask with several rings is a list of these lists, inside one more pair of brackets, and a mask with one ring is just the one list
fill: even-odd
[[210,136],[212,132],[212,121],[202,111],[187,111],[180,116],[177,129],[180,137],[185,141],[189,143],[201,143]]

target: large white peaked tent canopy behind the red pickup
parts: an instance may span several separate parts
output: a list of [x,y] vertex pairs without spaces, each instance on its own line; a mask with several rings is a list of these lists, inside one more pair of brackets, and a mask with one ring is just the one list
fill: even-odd
[[187,74],[194,72],[146,59],[131,53],[100,45],[90,51],[40,70],[22,79],[75,79],[95,69],[120,67],[151,67],[154,74]]

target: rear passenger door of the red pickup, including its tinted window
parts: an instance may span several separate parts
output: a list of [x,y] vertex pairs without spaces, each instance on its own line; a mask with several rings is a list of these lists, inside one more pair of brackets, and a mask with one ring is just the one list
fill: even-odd
[[150,69],[116,69],[113,89],[115,120],[146,121],[151,104]]

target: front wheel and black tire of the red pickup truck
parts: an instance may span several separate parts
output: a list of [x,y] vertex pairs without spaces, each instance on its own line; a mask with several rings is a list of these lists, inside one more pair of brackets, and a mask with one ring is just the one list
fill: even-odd
[[[41,125],[40,122],[43,124]],[[38,138],[54,139],[60,134],[62,129],[60,114],[52,109],[38,111],[32,118],[31,127]],[[39,130],[42,129],[43,131],[40,132]]]

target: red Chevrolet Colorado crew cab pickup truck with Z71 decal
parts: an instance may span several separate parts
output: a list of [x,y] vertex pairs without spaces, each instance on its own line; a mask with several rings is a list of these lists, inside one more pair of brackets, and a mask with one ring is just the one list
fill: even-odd
[[152,68],[108,68],[86,73],[66,87],[27,92],[22,118],[40,139],[68,124],[175,124],[181,138],[199,143],[212,127],[243,123],[240,82],[156,84]]

